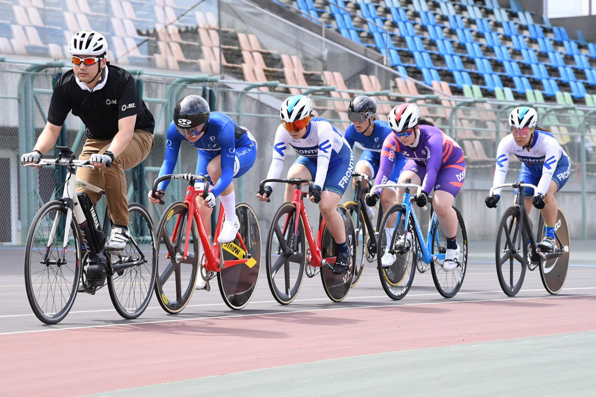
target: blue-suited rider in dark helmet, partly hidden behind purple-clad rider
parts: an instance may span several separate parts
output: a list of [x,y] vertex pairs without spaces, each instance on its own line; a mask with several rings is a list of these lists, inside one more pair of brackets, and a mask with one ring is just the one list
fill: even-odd
[[[364,151],[360,155],[358,162],[356,162],[355,172],[367,174],[371,179],[377,174],[378,166],[381,161],[381,149],[383,142],[387,135],[391,133],[391,127],[386,121],[375,120],[374,115],[377,112],[377,102],[369,96],[356,96],[350,101],[347,107],[347,118],[352,121],[346,129],[346,141],[353,149],[356,142],[358,142]],[[399,174],[402,172],[403,165],[406,163],[406,158],[401,153],[395,154],[393,160],[393,168],[388,177],[384,178],[381,183],[398,182]],[[354,181],[354,187],[356,181]],[[366,181],[362,181],[362,187],[368,187]],[[381,205],[383,208],[389,208],[395,202],[396,189],[383,189],[381,192]],[[366,192],[362,193],[363,195]],[[369,205],[374,206],[378,201],[378,195],[371,195]],[[368,215],[373,218],[373,209],[366,207]]]

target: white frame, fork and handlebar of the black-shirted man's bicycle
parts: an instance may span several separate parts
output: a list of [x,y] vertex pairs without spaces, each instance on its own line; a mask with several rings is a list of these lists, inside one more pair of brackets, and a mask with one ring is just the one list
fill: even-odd
[[[71,162],[72,161],[72,162]],[[76,195],[76,187],[84,187],[85,189],[91,190],[92,192],[104,194],[104,190],[100,189],[97,186],[91,185],[83,180],[76,179],[75,183],[72,183],[72,177],[75,176],[75,167],[85,167],[91,168],[92,170],[95,167],[89,164],[88,160],[69,160],[67,158],[58,158],[52,160],[42,159],[38,162],[38,164],[24,164],[25,167],[44,167],[45,165],[70,165],[69,174],[66,176],[66,182],[64,183],[64,192],[62,195],[63,199],[66,199],[66,202],[72,202],[75,214],[75,220],[77,224],[82,224],[86,221],[85,214],[83,214],[83,210],[79,205],[79,198]],[[66,212],[66,225],[70,225],[73,216],[73,208],[68,206]],[[48,242],[46,244],[46,249],[49,250],[49,247],[54,243],[54,236],[56,231],[58,230],[58,223],[60,222],[60,217],[54,218],[54,224],[52,224],[52,231],[49,234]],[[62,243],[62,250],[63,255],[66,252],[66,246],[69,243],[69,233],[64,233],[64,241]],[[87,246],[87,242],[85,241],[85,246]]]

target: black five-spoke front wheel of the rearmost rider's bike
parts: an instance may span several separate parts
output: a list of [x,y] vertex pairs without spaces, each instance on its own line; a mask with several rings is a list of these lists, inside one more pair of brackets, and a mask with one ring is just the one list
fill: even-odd
[[506,295],[515,296],[522,288],[527,267],[527,233],[520,230],[520,210],[509,207],[501,217],[496,234],[496,276]]

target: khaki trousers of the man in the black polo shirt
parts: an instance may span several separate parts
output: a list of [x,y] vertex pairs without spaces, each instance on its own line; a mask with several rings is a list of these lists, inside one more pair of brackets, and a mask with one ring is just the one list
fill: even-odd
[[[111,139],[87,139],[83,146],[79,160],[89,160],[92,154],[103,154],[110,146]],[[91,185],[104,189],[108,206],[108,215],[114,224],[128,225],[128,202],[126,201],[126,179],[124,171],[141,164],[153,147],[153,135],[143,130],[135,130],[131,142],[126,149],[114,159],[111,167],[105,168],[77,168],[77,179],[84,180]],[[85,192],[97,205],[100,193],[76,188],[77,193]]]

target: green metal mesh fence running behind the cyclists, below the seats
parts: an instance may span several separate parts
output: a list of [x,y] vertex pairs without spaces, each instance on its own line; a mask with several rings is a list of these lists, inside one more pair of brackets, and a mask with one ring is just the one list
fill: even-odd
[[[45,122],[52,92],[52,83],[60,76],[59,67],[42,67],[36,65],[18,66],[0,64],[0,84],[5,87],[0,95],[0,164],[4,170],[4,186],[0,200],[0,243],[21,244],[27,233],[35,212],[42,204],[52,199],[57,187],[55,180],[60,175],[46,167],[34,171],[20,165],[19,158],[30,151],[41,133]],[[54,64],[51,64],[55,66]],[[57,65],[60,65],[59,62]],[[28,70],[27,70],[28,69]],[[138,71],[137,71],[138,72]],[[133,71],[135,73],[135,71]],[[252,169],[240,179],[235,180],[237,201],[250,204],[261,220],[263,238],[265,238],[268,220],[283,201],[283,188],[276,188],[270,204],[262,204],[256,199],[256,191],[260,180],[266,177],[271,164],[272,145],[275,130],[279,124],[279,108],[283,99],[289,95],[292,86],[268,82],[269,90],[258,89],[258,83],[233,80],[218,80],[213,77],[166,77],[154,74],[139,74],[139,88],[144,101],[156,119],[155,144],[147,160],[144,170],[127,171],[129,182],[129,201],[145,201],[148,189],[156,179],[162,164],[165,148],[167,126],[172,120],[175,102],[191,93],[203,95],[212,101],[213,110],[225,112],[238,124],[252,132],[259,143],[257,161]],[[251,88],[252,87],[252,88]],[[302,87],[310,90],[315,110],[321,117],[330,120],[339,130],[347,126],[342,110],[347,108],[349,98],[362,91],[346,90],[347,98],[331,96],[337,90],[330,87]],[[378,95],[378,92],[370,93]],[[460,208],[467,222],[468,235],[477,238],[493,238],[496,230],[499,211],[489,211],[483,204],[488,190],[492,186],[494,158],[496,146],[502,136],[508,132],[507,118],[511,109],[520,105],[514,102],[486,101],[486,99],[434,96],[418,96],[404,98],[402,95],[383,92],[386,96],[377,96],[379,109],[385,110],[404,100],[419,101],[423,115],[430,118],[445,133],[454,137],[466,156],[467,175],[462,192],[458,195],[456,205]],[[438,98],[438,99],[437,99]],[[551,129],[572,160],[572,171],[569,182],[557,193],[559,207],[566,212],[572,237],[596,236],[596,219],[594,210],[588,205],[596,194],[596,109],[575,105],[556,105],[546,103],[532,104],[539,112],[539,125]],[[379,111],[382,117],[381,111]],[[69,146],[78,155],[85,135],[79,118],[69,115],[64,124],[59,143]],[[357,160],[361,151],[355,148]],[[46,157],[54,155],[48,152]],[[175,172],[194,172],[196,151],[190,145],[182,145]],[[293,163],[296,154],[287,152],[284,171]],[[520,162],[512,162],[507,180],[517,177]],[[143,185],[139,184],[142,180]],[[172,202],[183,197],[185,186],[180,182],[172,182],[166,194],[166,200]],[[348,190],[341,202],[352,199],[352,191]],[[513,202],[505,194],[504,200]],[[148,204],[147,204],[148,205]],[[98,211],[103,213],[104,205]],[[151,215],[157,223],[162,206],[151,206]],[[311,205],[311,210],[316,207]],[[504,208],[504,207],[503,207]]]

